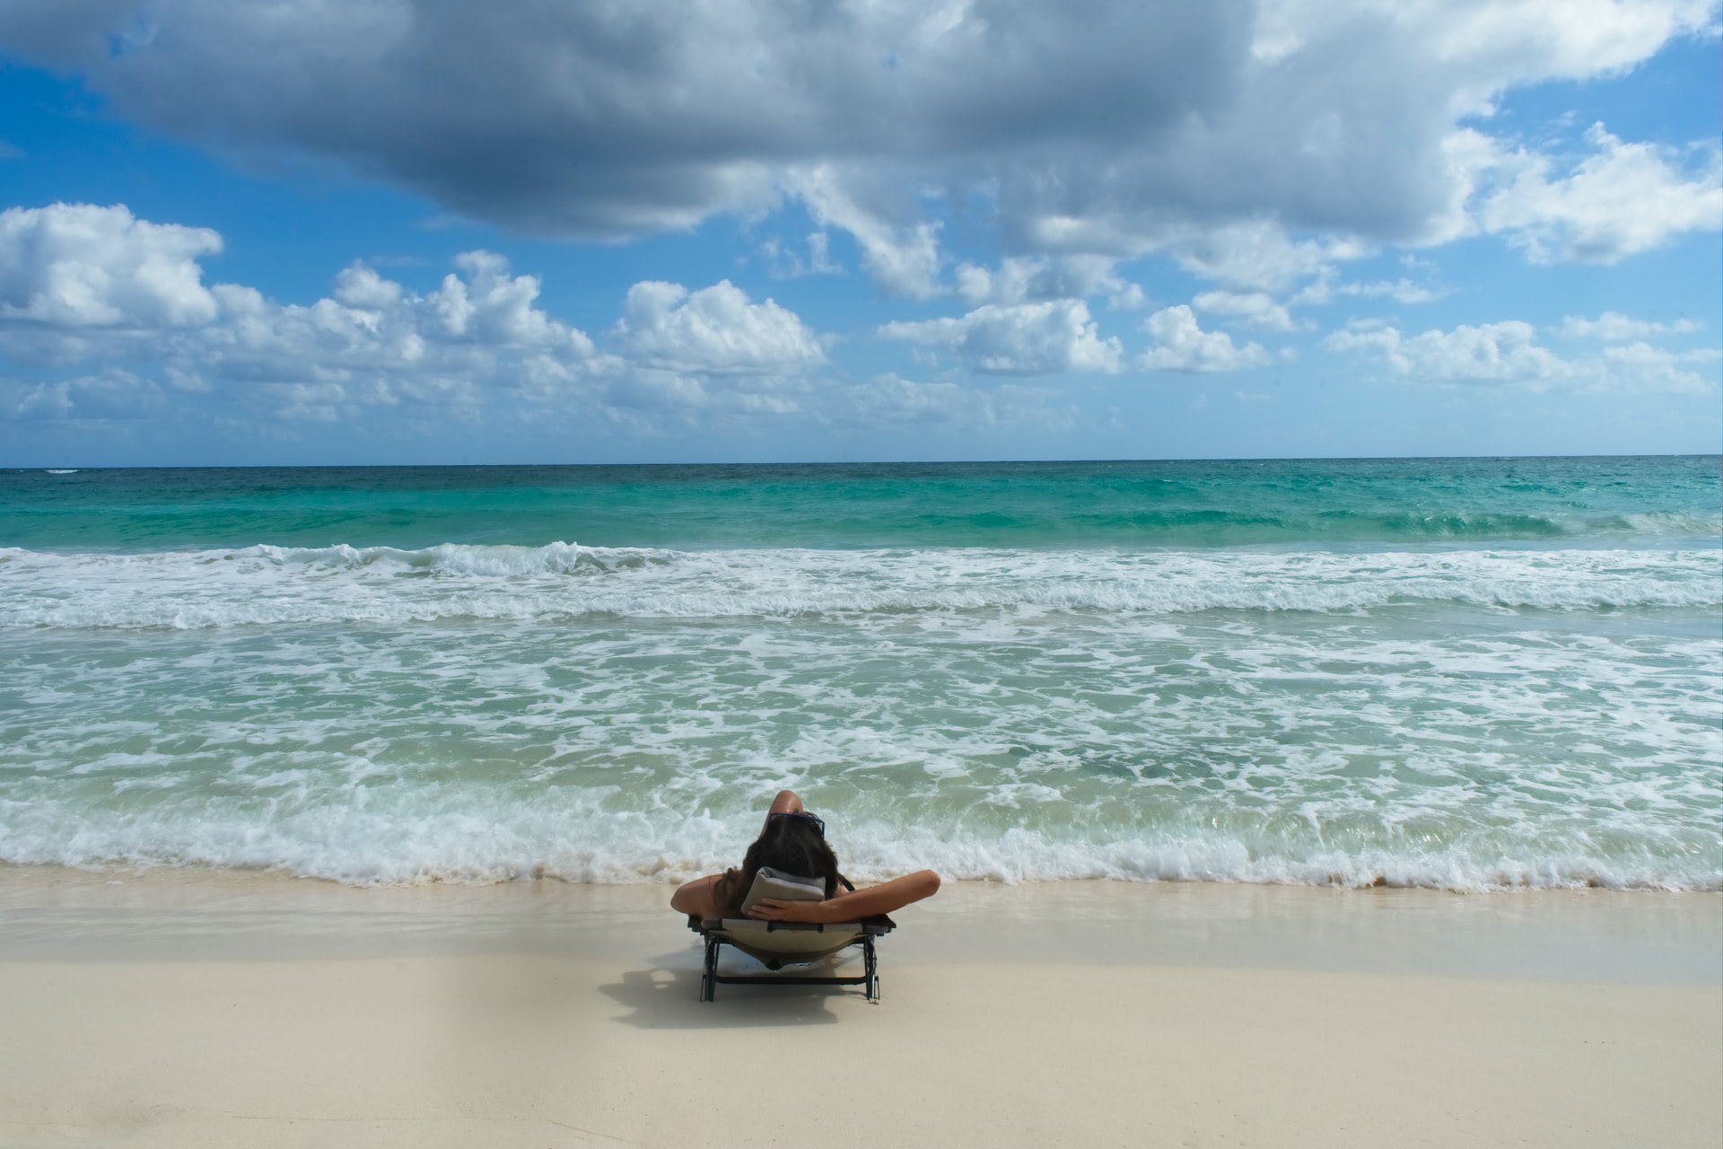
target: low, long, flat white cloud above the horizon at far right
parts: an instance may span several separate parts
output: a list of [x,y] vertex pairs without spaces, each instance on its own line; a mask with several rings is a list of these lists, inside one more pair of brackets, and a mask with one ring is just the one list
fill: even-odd
[[1706,381],[1692,369],[1716,360],[1714,350],[1668,351],[1647,343],[1563,358],[1539,345],[1537,329],[1521,320],[1461,324],[1409,338],[1396,327],[1359,324],[1335,331],[1323,346],[1378,358],[1396,379],[1532,389],[1701,393]]

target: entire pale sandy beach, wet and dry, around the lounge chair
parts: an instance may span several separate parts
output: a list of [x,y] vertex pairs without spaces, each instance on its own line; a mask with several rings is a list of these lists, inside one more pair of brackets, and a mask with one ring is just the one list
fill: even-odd
[[0,1144],[1723,1142],[1720,896],[951,884],[868,1006],[667,894],[0,870]]

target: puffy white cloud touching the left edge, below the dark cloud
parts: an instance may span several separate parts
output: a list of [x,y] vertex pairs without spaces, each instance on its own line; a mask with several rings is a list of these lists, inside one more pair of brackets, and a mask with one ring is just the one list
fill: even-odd
[[207,227],[152,224],[124,205],[53,203],[0,212],[0,320],[53,327],[203,324],[215,298],[198,257]]

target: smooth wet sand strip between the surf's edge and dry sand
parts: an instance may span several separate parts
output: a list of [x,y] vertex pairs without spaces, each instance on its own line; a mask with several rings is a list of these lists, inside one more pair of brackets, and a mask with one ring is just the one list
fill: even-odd
[[[674,882],[346,885],[279,872],[0,865],[0,961],[560,953],[625,960],[687,939]],[[1723,892],[946,880],[891,947],[913,961],[1222,965],[1723,980]]]

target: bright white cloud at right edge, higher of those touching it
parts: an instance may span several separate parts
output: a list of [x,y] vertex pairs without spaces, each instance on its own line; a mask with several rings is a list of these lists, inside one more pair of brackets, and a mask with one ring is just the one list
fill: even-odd
[[1561,176],[1552,176],[1549,157],[1508,157],[1502,165],[1513,174],[1478,208],[1482,227],[1506,233],[1539,264],[1614,264],[1682,233],[1723,227],[1714,143],[1704,171],[1687,174],[1670,150],[1623,143],[1602,124],[1592,126],[1587,141],[1595,152]]

